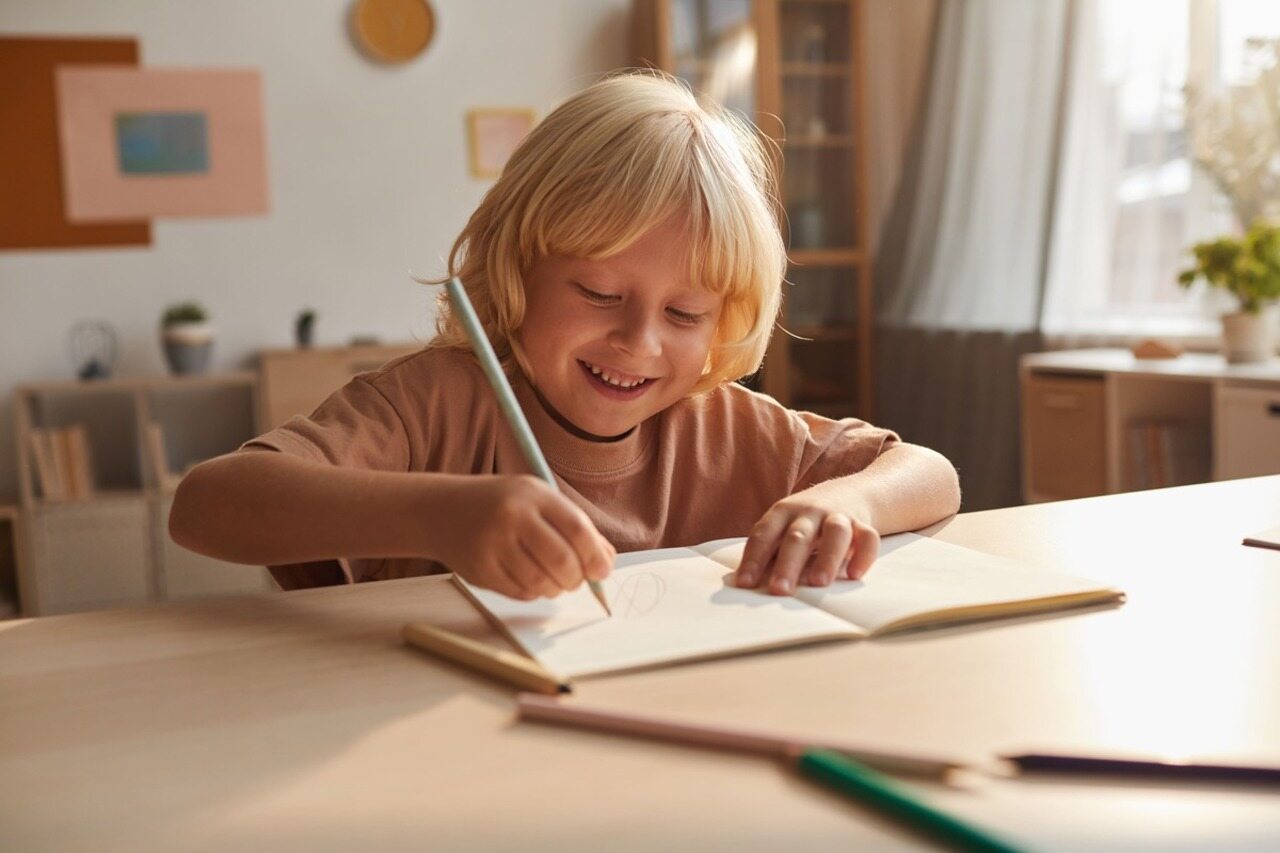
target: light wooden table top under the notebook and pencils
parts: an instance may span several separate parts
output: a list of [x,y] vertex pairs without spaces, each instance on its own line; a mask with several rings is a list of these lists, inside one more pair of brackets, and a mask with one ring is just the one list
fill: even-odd
[[[1280,763],[1280,476],[957,516],[1117,610],[581,683],[585,702],[984,758]],[[920,841],[765,761],[513,724],[404,648],[440,578],[0,622],[0,848],[829,850]],[[1280,847],[1275,790],[996,780],[923,797],[1038,849]]]

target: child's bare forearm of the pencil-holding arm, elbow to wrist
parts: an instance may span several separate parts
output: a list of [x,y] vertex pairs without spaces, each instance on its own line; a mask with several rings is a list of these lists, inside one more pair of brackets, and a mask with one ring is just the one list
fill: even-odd
[[436,558],[449,494],[465,478],[337,467],[255,451],[192,470],[169,515],[173,540],[256,565],[338,556]]

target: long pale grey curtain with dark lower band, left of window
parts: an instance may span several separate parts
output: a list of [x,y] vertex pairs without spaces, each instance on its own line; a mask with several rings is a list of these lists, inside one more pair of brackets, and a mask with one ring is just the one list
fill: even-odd
[[1039,316],[1061,156],[1068,0],[943,3],[877,261],[876,418],[1019,502],[1018,357]]

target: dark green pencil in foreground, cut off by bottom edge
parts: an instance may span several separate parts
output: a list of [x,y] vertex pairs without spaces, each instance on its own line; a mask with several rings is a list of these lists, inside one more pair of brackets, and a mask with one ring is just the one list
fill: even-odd
[[915,799],[893,780],[827,749],[806,749],[796,762],[800,772],[956,850],[1015,853],[1007,844]]

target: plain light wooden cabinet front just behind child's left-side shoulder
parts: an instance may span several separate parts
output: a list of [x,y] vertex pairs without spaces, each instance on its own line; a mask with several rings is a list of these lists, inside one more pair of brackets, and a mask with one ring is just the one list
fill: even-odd
[[262,350],[259,353],[259,432],[307,415],[357,373],[376,370],[421,343]]

